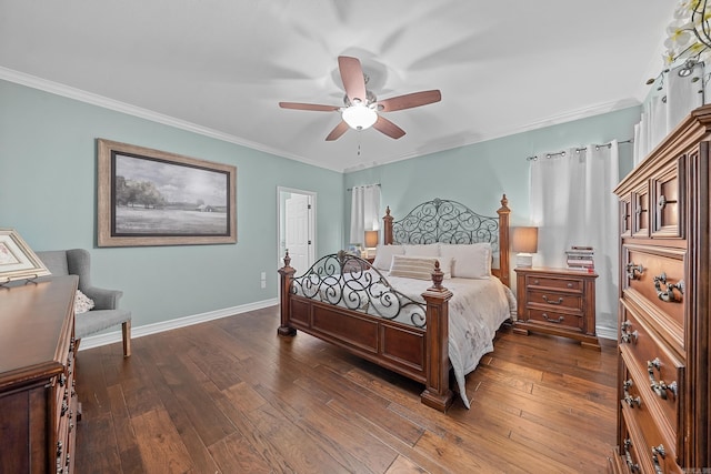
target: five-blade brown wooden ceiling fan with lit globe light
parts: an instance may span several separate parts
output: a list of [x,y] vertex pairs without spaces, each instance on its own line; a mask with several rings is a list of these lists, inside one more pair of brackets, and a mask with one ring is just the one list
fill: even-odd
[[364,130],[370,127],[385,135],[399,139],[404,135],[404,130],[380,115],[379,112],[392,112],[395,110],[412,109],[439,102],[442,94],[439,90],[413,92],[390,99],[378,100],[375,94],[365,89],[367,77],[357,58],[339,56],[338,69],[341,73],[346,97],[343,107],[320,105],[316,103],[279,102],[283,109],[313,110],[317,112],[340,112],[341,122],[336,125],[326,138],[327,141],[339,139],[349,128]]

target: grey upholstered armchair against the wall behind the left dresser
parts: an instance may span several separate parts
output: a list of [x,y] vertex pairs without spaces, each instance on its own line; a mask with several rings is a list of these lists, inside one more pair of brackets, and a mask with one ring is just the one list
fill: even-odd
[[37,252],[52,275],[78,275],[79,290],[93,300],[94,307],[74,316],[77,347],[81,337],[97,333],[117,324],[122,325],[123,356],[131,355],[131,312],[119,309],[119,290],[93,286],[90,274],[90,254],[84,249],[52,250]]

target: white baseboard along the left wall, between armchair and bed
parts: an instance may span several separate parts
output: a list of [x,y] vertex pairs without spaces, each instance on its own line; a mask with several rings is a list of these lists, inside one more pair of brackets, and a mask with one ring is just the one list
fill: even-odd
[[[207,321],[219,320],[221,317],[233,316],[236,314],[247,313],[249,311],[261,310],[279,304],[278,299],[258,301],[256,303],[242,304],[239,306],[226,307],[223,310],[210,311],[208,313],[194,314],[192,316],[178,317],[176,320],[162,321],[160,323],[146,324],[142,326],[131,327],[131,339],[142,337],[149,334],[157,334],[163,331],[170,331],[178,327],[186,327],[193,324],[204,323]],[[82,337],[79,351],[84,349],[99,347],[107,344],[121,342],[121,331],[113,331],[106,334],[90,335]]]

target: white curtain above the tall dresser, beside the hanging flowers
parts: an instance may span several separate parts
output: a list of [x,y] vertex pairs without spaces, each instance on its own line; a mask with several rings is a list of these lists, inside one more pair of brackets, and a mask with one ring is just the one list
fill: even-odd
[[[709,68],[695,65],[689,75],[679,75],[684,65],[663,72],[642,107],[634,125],[634,164],[642,161],[692,110],[704,104],[704,74]],[[707,69],[707,71],[704,71]]]

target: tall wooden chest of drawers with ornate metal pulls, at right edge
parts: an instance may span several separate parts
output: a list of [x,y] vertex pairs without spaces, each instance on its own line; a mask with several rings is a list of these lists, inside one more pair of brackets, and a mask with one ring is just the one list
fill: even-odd
[[613,472],[711,467],[710,145],[704,105],[614,191],[621,236]]

